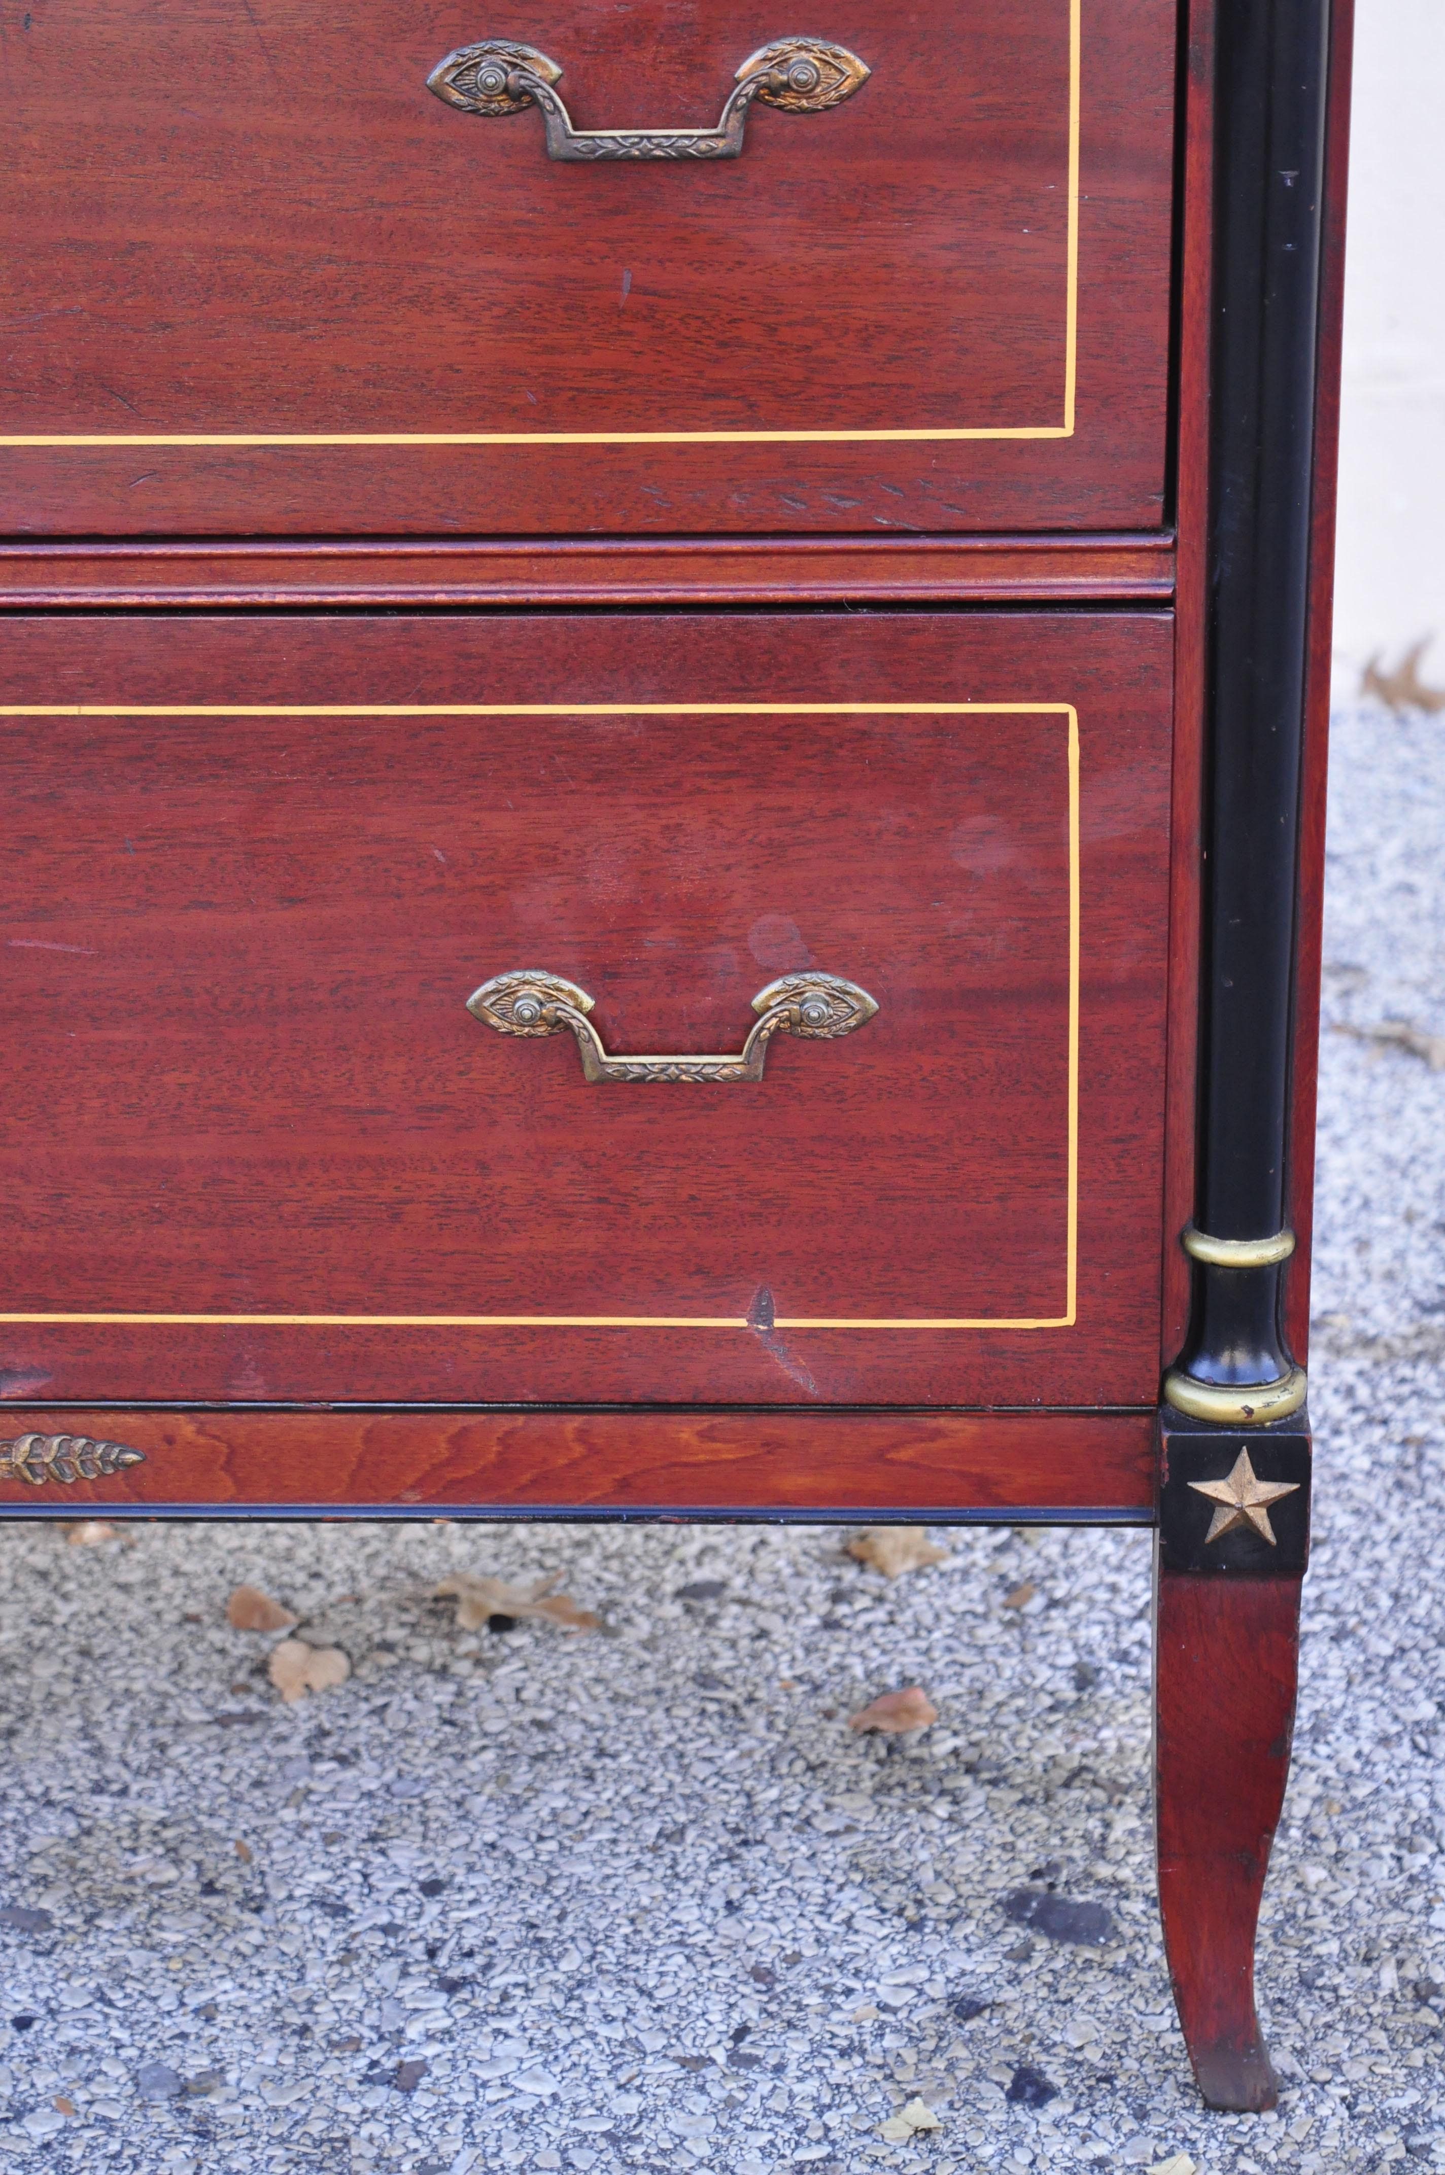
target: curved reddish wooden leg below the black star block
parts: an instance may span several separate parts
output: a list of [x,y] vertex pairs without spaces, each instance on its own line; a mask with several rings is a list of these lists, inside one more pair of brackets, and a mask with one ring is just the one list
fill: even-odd
[[1160,1912],[1180,2025],[1212,2108],[1277,2099],[1253,1934],[1295,1725],[1299,1579],[1160,1573],[1153,1614]]

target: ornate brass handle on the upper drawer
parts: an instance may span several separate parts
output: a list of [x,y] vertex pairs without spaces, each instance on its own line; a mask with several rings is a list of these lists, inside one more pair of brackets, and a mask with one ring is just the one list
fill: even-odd
[[542,107],[548,159],[583,165],[598,159],[738,159],[753,100],[779,113],[827,113],[868,80],[868,70],[847,46],[779,37],[742,63],[716,128],[572,128],[553,89],[559,76],[557,63],[535,46],[487,37],[448,52],[427,76],[427,89],[461,113],[498,117]]

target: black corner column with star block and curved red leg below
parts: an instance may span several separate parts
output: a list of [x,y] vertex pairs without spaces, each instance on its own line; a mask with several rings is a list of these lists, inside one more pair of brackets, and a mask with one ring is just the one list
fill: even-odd
[[1190,1333],[1164,1381],[1160,1910],[1210,2105],[1277,2086],[1253,1940],[1295,1712],[1306,1377],[1282,1335],[1327,0],[1219,0],[1206,868]]

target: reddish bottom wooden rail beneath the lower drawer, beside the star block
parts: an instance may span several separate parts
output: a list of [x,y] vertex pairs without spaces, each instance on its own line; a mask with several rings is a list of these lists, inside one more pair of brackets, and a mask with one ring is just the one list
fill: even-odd
[[962,1412],[57,1412],[0,1435],[100,1435],[146,1464],[4,1509],[446,1509],[551,1518],[1153,1507],[1153,1416]]

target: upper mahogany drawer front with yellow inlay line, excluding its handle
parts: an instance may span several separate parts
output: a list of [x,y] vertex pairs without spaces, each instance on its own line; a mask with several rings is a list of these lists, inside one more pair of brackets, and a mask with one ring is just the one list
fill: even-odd
[[[792,30],[868,80],[764,85],[736,159],[555,161],[535,104],[429,89],[507,33],[579,130],[712,128]],[[48,0],[7,41],[7,526],[1158,524],[1173,72],[1173,0]]]

